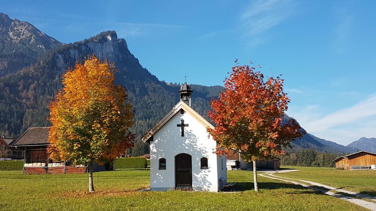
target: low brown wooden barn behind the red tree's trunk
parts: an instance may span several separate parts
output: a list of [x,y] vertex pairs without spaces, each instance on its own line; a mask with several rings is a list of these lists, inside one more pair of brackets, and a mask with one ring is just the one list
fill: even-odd
[[[280,158],[273,157],[267,160],[258,160],[256,161],[257,169],[280,169],[279,166]],[[232,164],[235,164],[232,166]],[[233,168],[239,168],[241,170],[253,170],[253,163],[246,163],[241,158],[241,152],[231,150],[230,154],[227,155],[227,166]],[[231,168],[230,167],[230,168]]]

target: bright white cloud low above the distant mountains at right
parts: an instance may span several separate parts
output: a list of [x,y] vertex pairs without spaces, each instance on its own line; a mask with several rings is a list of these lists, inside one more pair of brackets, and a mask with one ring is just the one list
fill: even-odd
[[322,115],[311,105],[299,112],[289,111],[300,125],[317,137],[347,145],[360,137],[376,136],[376,96],[371,95],[351,107]]

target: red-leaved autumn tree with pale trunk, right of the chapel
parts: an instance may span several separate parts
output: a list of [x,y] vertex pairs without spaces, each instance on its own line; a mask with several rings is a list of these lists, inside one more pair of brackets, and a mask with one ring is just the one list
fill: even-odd
[[294,119],[282,120],[290,99],[280,77],[264,81],[264,75],[254,67],[237,63],[224,82],[224,91],[210,102],[208,116],[216,127],[208,132],[219,143],[217,154],[235,149],[242,152],[245,162],[253,162],[258,191],[256,161],[284,154],[283,148],[304,132]]

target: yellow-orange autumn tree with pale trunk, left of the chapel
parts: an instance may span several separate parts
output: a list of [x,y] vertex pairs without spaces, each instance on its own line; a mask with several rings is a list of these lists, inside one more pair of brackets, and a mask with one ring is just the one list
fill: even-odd
[[115,66],[94,54],[62,76],[64,88],[51,102],[49,133],[53,160],[89,163],[89,192],[94,191],[93,162],[107,163],[133,146],[132,106],[125,87],[114,84]]

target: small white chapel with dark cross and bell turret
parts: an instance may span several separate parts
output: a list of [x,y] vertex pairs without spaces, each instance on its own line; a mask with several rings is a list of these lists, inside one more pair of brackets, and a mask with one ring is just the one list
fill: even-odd
[[227,179],[226,155],[213,153],[218,143],[206,128],[214,126],[191,108],[192,92],[185,82],[180,101],[142,138],[150,143],[152,191],[220,191]]

